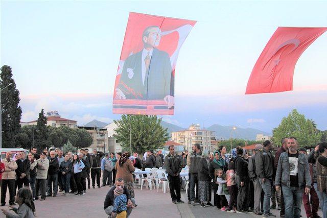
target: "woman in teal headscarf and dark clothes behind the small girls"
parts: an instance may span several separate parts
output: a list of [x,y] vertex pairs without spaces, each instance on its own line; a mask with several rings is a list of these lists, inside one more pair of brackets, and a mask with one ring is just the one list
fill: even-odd
[[[224,196],[219,196],[217,195],[217,190],[218,190],[218,184],[216,184],[215,182],[215,171],[218,168],[221,168],[224,172],[226,172],[228,169],[227,168],[227,162],[225,161],[225,159],[221,158],[219,151],[216,151],[214,153],[214,160],[210,162],[210,166],[209,166],[209,174],[210,177],[214,180],[213,186],[214,186],[214,205],[217,208],[221,208],[220,205],[220,198],[225,198]],[[227,202],[227,200],[225,200]]]

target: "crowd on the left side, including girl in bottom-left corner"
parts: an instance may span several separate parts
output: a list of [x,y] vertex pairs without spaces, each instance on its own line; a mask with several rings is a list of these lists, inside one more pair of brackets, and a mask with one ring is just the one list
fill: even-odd
[[[34,217],[34,201],[36,200],[43,201],[46,197],[55,198],[58,192],[61,192],[62,196],[84,196],[91,186],[92,188],[96,188],[96,185],[98,188],[111,186],[115,183],[116,175],[120,176],[118,183],[125,181],[125,190],[133,181],[133,178],[128,179],[124,176],[122,169],[125,166],[124,163],[129,163],[130,168],[133,167],[129,154],[126,157],[127,153],[115,155],[97,150],[90,154],[88,149],[81,149],[77,154],[67,152],[65,155],[59,149],[49,152],[44,149],[39,155],[37,149],[32,148],[28,157],[24,151],[21,151],[13,158],[12,153],[7,152],[6,158],[0,163],[0,206],[6,205],[7,188],[9,205],[18,214],[17,217]],[[116,164],[118,161],[120,161],[119,164]],[[132,172],[129,171],[130,176]],[[101,174],[102,184],[100,183]],[[131,193],[131,189],[132,187],[128,189],[128,193]],[[18,209],[14,207],[16,203],[19,205]],[[134,203],[133,200],[133,205]],[[2,210],[7,217],[16,217],[13,213]]]

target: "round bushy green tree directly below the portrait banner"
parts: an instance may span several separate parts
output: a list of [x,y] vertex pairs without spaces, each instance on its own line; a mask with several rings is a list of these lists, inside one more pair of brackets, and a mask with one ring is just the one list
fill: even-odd
[[116,134],[113,136],[121,142],[126,151],[130,151],[129,124],[131,124],[132,151],[134,152],[143,153],[161,148],[169,139],[167,128],[162,128],[161,118],[158,119],[155,115],[122,115],[120,120],[113,122],[118,125],[115,129]]

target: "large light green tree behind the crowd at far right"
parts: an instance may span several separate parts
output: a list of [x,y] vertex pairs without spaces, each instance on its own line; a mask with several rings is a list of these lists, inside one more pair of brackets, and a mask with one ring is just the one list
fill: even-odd
[[312,119],[306,119],[305,115],[293,109],[287,117],[282,119],[281,124],[273,129],[272,140],[281,144],[283,137],[294,136],[300,147],[315,146],[321,139],[321,132],[317,132]]

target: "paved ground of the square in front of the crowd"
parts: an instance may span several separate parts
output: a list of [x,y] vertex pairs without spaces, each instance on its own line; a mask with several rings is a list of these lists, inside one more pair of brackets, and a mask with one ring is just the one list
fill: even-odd
[[[85,196],[68,196],[63,197],[58,193],[56,198],[47,197],[45,201],[35,201],[37,217],[42,218],[65,218],[65,217],[108,217],[103,210],[103,202],[109,187],[101,187],[96,189],[89,189]],[[161,189],[159,192],[149,189],[135,189],[136,204],[138,205],[133,209],[131,218],[134,217],[262,217],[254,214],[239,214],[227,213],[218,210],[216,207],[200,208],[200,205],[191,206],[186,203],[185,192],[182,192],[182,200],[185,204],[174,205],[171,203],[169,190],[163,193]],[[7,205],[4,209],[8,208],[9,196],[7,195]],[[272,210],[275,215],[279,215],[279,211]],[[322,216],[321,210],[319,215]],[[304,209],[302,208],[303,218],[306,217]],[[5,217],[0,214],[0,218]],[[277,216],[279,217],[279,216]]]

